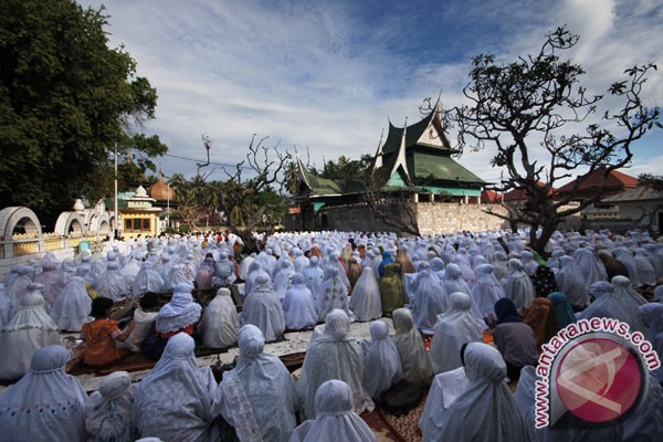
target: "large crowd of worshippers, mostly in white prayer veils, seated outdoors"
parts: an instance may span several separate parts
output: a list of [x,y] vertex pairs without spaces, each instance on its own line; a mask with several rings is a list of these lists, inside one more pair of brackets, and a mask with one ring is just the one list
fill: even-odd
[[[663,369],[644,373],[628,419],[536,430],[534,367],[560,329],[592,317],[627,323],[663,355],[663,242],[557,232],[541,256],[526,238],[278,233],[242,255],[234,238],[164,235],[15,265],[0,287],[0,381],[12,383],[0,396],[0,434],[375,441],[359,414],[376,403],[408,412],[428,394],[423,441],[653,440]],[[215,296],[201,305],[194,291]],[[110,318],[128,304],[128,317]],[[370,339],[352,336],[352,322],[370,323]],[[313,332],[296,379],[264,352],[286,330]],[[80,352],[61,346],[62,332],[81,334]],[[200,346],[239,347],[221,382],[199,367]],[[72,356],[108,368],[136,352],[157,361],[136,385],[115,371],[88,397],[66,372]]]

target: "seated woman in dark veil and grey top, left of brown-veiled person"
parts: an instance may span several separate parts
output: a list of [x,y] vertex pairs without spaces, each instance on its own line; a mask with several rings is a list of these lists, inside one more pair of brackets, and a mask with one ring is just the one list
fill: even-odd
[[517,380],[523,367],[536,366],[538,362],[539,352],[534,330],[523,322],[516,305],[507,297],[495,303],[495,346],[506,362],[508,378]]

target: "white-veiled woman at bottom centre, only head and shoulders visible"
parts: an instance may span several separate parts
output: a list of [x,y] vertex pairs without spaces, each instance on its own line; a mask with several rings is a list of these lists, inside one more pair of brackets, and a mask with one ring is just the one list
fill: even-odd
[[346,382],[324,382],[315,393],[317,417],[297,427],[290,442],[377,442],[370,427],[352,411],[354,402]]

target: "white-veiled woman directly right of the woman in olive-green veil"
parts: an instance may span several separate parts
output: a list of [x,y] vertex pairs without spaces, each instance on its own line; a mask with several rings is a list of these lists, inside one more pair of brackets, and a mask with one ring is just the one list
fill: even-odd
[[449,308],[449,294],[440,284],[438,276],[431,274],[429,270],[419,272],[417,291],[410,308],[414,317],[414,325],[425,333],[433,329],[438,322],[438,315]]

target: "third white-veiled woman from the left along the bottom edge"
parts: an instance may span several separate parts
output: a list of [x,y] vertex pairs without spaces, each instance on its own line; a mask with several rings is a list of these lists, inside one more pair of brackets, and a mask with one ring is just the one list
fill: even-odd
[[141,436],[169,442],[217,440],[211,429],[217,382],[210,367],[198,367],[194,349],[191,336],[175,335],[140,381],[131,417]]

